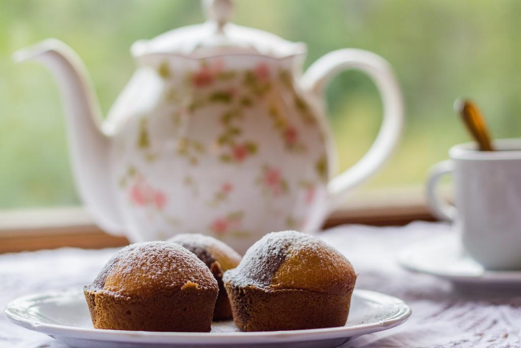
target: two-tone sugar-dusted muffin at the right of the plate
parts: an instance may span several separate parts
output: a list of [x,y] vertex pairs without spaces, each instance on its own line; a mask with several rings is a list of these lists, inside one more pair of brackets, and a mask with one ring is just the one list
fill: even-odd
[[295,231],[257,241],[223,277],[242,331],[345,325],[356,273],[336,249]]

